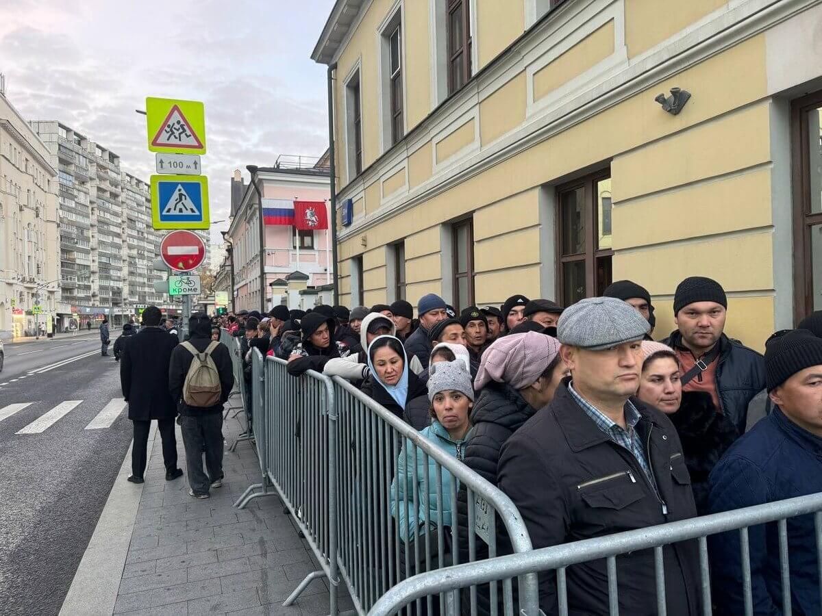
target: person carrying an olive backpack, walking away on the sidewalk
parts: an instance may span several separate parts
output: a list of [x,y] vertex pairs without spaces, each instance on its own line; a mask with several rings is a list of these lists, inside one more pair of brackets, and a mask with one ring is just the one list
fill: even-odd
[[[188,494],[207,499],[223,485],[223,404],[234,386],[229,349],[211,340],[211,321],[198,312],[188,320],[191,338],[174,348],[169,391],[182,419]],[[205,452],[205,471],[202,453]]]

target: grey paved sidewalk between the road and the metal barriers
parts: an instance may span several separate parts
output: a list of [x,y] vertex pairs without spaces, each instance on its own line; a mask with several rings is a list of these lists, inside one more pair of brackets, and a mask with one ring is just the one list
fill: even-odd
[[[270,496],[252,500],[242,510],[233,508],[242,491],[260,481],[260,468],[251,443],[228,451],[242,431],[231,414],[223,429],[224,485],[211,490],[210,499],[192,499],[185,477],[165,480],[155,431],[121,564],[115,614],[328,614],[325,578],[312,582],[294,605],[282,605],[302,578],[319,567],[279,499]],[[177,437],[179,467],[185,471],[179,426]],[[348,597],[339,605],[341,610],[352,607]]]

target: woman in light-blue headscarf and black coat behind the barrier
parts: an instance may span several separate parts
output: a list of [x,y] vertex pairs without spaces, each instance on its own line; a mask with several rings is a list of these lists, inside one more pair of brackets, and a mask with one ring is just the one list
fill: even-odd
[[423,430],[431,423],[428,389],[411,370],[403,343],[395,336],[378,336],[368,347],[371,374],[360,390],[399,419]]

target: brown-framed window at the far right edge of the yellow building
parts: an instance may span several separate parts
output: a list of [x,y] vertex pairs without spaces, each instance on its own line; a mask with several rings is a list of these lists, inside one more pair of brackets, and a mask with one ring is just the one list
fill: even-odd
[[792,105],[794,319],[822,310],[822,91]]

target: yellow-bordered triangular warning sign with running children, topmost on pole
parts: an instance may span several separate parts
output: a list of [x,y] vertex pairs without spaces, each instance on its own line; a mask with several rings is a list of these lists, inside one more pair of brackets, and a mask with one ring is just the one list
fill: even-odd
[[205,106],[196,100],[145,99],[152,152],[205,154]]

